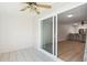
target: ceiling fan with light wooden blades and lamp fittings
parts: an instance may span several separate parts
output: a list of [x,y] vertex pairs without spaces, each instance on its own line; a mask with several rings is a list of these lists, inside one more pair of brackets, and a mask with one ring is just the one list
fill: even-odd
[[25,8],[21,9],[21,11],[25,11],[28,9],[31,9],[33,11],[35,11],[37,14],[40,14],[39,8],[44,8],[44,9],[51,9],[52,6],[50,4],[42,4],[42,3],[37,3],[37,2],[24,2],[26,6]]

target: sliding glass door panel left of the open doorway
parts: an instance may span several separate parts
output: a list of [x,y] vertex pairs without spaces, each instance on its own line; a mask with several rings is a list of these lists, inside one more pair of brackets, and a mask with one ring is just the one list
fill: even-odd
[[41,21],[41,48],[56,55],[56,17]]

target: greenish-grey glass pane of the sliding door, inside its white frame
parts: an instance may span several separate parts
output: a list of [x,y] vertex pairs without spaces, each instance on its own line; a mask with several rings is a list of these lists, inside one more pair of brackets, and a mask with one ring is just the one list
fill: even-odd
[[42,48],[53,53],[53,18],[41,21]]

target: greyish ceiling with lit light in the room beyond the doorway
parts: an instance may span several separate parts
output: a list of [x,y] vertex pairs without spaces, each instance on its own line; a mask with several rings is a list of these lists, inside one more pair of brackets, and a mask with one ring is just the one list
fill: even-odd
[[[74,17],[67,18],[68,14],[73,14]],[[87,3],[58,15],[59,23],[80,23],[81,20],[87,20]],[[87,23],[87,21],[85,21],[85,23]]]

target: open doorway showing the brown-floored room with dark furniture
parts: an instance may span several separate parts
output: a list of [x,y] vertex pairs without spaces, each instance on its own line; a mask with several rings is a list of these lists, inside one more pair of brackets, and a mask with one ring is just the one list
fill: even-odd
[[57,56],[65,62],[83,62],[87,30],[87,4],[59,13]]

